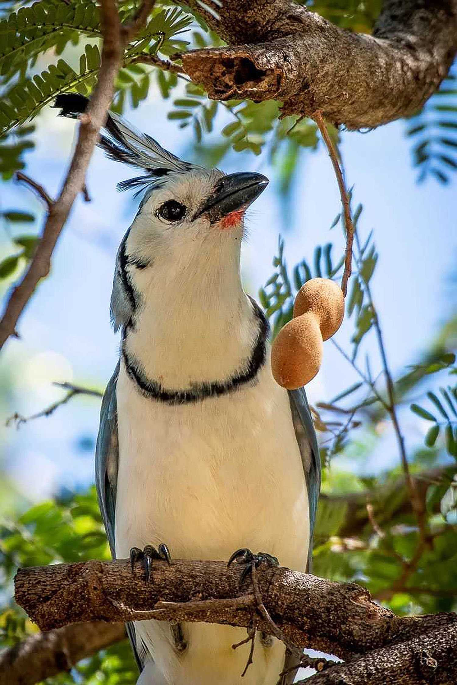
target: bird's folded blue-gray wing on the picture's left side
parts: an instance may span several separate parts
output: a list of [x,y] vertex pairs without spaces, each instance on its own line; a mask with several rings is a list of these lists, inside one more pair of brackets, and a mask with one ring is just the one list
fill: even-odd
[[[117,470],[119,464],[119,440],[117,433],[117,405],[116,383],[119,376],[119,363],[101,402],[99,434],[95,447],[95,486],[106,536],[110,544],[112,558],[116,558],[116,544],[114,540],[114,514],[116,512]],[[125,625],[129,636],[138,669],[143,668],[143,662],[138,656],[136,648],[135,627],[133,623]]]

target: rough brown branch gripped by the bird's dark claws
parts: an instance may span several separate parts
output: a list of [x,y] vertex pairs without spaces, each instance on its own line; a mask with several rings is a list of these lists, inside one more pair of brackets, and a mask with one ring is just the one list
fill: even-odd
[[[247,627],[256,606],[249,580],[238,588],[240,573],[240,566],[227,569],[223,562],[154,562],[148,584],[142,569],[132,574],[128,560],[58,564],[18,571],[15,598],[42,630],[72,622],[147,618]],[[457,614],[398,617],[356,584],[289,569],[261,567],[258,582],[265,608],[290,643],[341,658],[405,643],[457,622]],[[258,627],[271,632],[262,619]]]

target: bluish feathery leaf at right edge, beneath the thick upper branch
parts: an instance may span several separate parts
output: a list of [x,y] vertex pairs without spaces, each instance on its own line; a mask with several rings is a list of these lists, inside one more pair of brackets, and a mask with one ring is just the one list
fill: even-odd
[[419,182],[432,175],[449,182],[457,170],[457,70],[449,72],[441,88],[422,110],[408,119],[406,135],[412,138],[412,158]]

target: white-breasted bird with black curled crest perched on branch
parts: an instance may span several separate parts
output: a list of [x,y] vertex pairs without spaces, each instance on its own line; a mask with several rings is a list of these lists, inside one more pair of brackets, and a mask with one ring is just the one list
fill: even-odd
[[[55,106],[78,118],[87,103],[70,93]],[[145,582],[154,558],[309,570],[321,481],[312,416],[304,388],[273,379],[269,323],[240,277],[245,212],[268,179],[181,160],[114,113],[99,146],[142,172],[119,184],[142,199],[116,256],[121,345],[95,456],[112,556],[143,563]],[[284,669],[284,643],[258,634],[242,677],[238,627],[149,620],[127,632],[138,685],[273,685]]]

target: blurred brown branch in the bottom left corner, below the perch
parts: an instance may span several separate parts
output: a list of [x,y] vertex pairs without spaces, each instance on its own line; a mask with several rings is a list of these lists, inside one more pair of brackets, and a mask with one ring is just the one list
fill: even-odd
[[0,653],[0,685],[34,685],[125,638],[123,623],[75,623]]

